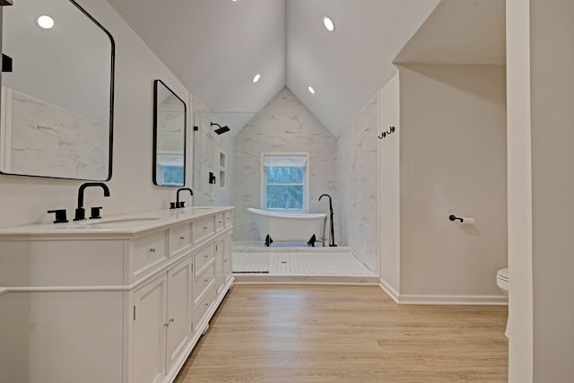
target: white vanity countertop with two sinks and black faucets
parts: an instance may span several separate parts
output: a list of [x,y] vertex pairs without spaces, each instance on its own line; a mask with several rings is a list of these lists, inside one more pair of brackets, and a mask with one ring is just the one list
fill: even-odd
[[149,231],[223,213],[233,206],[192,206],[181,209],[151,210],[137,213],[121,213],[98,220],[83,220],[67,223],[35,223],[30,225],[0,228],[0,240],[22,237],[113,237],[130,238]]

